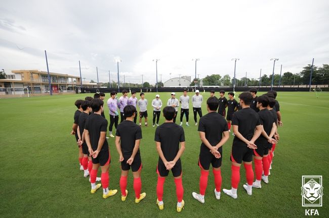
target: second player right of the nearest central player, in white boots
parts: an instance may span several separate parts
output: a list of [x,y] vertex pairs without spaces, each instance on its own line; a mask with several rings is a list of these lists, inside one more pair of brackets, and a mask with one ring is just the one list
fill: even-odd
[[[243,161],[245,176],[248,185],[243,185],[248,195],[252,195],[254,171],[252,166],[254,143],[262,133],[259,115],[250,108],[253,96],[250,92],[242,92],[239,95],[242,110],[233,114],[232,126],[234,139],[232,144],[231,161],[232,177],[231,189],[223,189],[223,192],[232,198],[237,198],[237,187],[240,182],[240,166]],[[255,131],[256,129],[256,131]]]

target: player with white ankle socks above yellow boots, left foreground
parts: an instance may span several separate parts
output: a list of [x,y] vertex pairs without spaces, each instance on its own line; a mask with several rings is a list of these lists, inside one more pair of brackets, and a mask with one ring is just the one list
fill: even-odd
[[[106,140],[107,120],[101,116],[104,102],[101,99],[93,99],[90,103],[93,114],[88,116],[85,126],[85,139],[90,155],[92,156],[93,168],[90,173],[91,193],[103,186],[103,198],[115,195],[117,190],[109,190],[110,151]],[[99,166],[101,167],[101,184],[96,185],[96,177]]]

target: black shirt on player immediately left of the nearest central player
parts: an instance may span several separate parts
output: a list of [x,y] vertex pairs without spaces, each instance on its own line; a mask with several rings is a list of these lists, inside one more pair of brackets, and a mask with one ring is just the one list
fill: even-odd
[[142,138],[142,129],[134,122],[125,120],[117,126],[115,135],[120,137],[122,154],[132,154],[136,140]]

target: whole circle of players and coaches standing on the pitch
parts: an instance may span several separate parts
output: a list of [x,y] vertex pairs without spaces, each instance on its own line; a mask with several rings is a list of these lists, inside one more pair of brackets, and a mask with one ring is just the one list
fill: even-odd
[[[142,160],[139,150],[142,139],[142,118],[145,119],[147,127],[147,99],[144,93],[140,93],[138,100],[136,92],[132,91],[132,96],[128,98],[127,90],[122,91],[122,96],[117,99],[116,92],[110,93],[111,97],[107,101],[109,108],[110,125],[109,137],[115,137],[115,146],[121,162],[121,177],[119,186],[121,200],[125,201],[128,195],[127,181],[128,173],[133,172],[133,187],[135,191],[135,202],[139,203],[145,198],[146,193],[141,193],[141,170]],[[222,146],[229,139],[231,125],[233,127],[233,144],[230,155],[231,164],[231,189],[222,191],[237,198],[237,188],[240,181],[240,166],[246,171],[246,184],[243,184],[248,195],[252,195],[252,188],[261,188],[261,180],[268,184],[271,162],[275,144],[279,140],[277,127],[282,125],[279,104],[275,100],[276,92],[257,96],[257,89],[243,92],[239,95],[239,102],[234,99],[234,93],[229,92],[226,99],[225,91],[220,91],[220,97],[215,96],[215,91],[211,91],[211,97],[207,99],[208,114],[202,116],[201,104],[202,95],[198,90],[192,96],[193,114],[195,125],[198,125],[199,137],[201,140],[198,166],[200,167],[199,192],[192,192],[193,198],[204,203],[205,190],[207,189],[210,165],[213,167],[215,179],[214,194],[216,199],[221,197],[221,165]],[[186,126],[189,126],[189,96],[187,91],[179,100],[174,92],[162,110],[165,123],[159,125],[162,101],[156,94],[152,100],[153,107],[153,127],[157,126],[154,134],[156,150],[159,158],[156,166],[158,175],[156,186],[156,204],[160,210],[164,208],[162,195],[163,184],[169,172],[172,171],[176,185],[177,207],[181,212],[184,208],[183,184],[182,184],[182,163],[181,155],[185,150],[185,135],[183,117],[186,117]],[[103,188],[103,198],[115,195],[116,189],[109,190],[109,165],[110,152],[106,138],[108,122],[104,116],[104,93],[96,93],[94,98],[86,97],[85,100],[76,100],[75,105],[78,110],[74,114],[74,123],[71,134],[75,134],[79,147],[80,170],[84,170],[84,177],[90,176],[91,193],[95,193],[101,186]],[[181,104],[180,125],[176,124],[178,107]],[[137,122],[137,106],[139,107],[139,125]],[[227,115],[226,115],[226,107]],[[120,111],[120,124],[118,117]],[[199,123],[197,123],[197,114]],[[226,120],[225,120],[226,116]],[[155,122],[156,121],[156,122]],[[116,128],[115,136],[112,133],[113,125]],[[252,160],[254,157],[254,167],[256,180],[254,181],[254,171]],[[97,177],[98,168],[101,167],[101,178]],[[96,184],[97,181],[101,183]]]

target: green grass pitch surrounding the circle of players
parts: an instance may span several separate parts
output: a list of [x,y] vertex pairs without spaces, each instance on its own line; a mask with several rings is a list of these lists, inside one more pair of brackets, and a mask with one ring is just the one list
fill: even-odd
[[[176,93],[177,97],[181,93]],[[193,93],[189,93],[192,96]],[[207,113],[204,97],[203,114]],[[259,93],[261,94],[261,93]],[[238,198],[222,193],[218,201],[214,196],[214,177],[210,173],[205,203],[194,200],[192,191],[198,192],[199,168],[197,159],[200,139],[190,109],[190,127],[183,120],[186,150],[182,156],[185,209],[176,212],[176,192],[172,175],[167,178],[163,201],[165,209],[156,204],[155,149],[152,125],[142,127],[141,157],[143,162],[142,191],[146,198],[134,202],[133,176],[128,178],[129,195],[121,202],[120,193],[103,199],[102,190],[90,193],[88,178],[79,171],[78,149],[70,135],[74,101],[85,94],[0,99],[0,216],[1,217],[303,217],[302,175],[323,176],[323,206],[321,216],[328,216],[329,188],[329,93],[279,92],[283,127],[279,128],[270,183],[254,189],[249,196],[242,188],[245,182],[241,167]],[[120,96],[120,94],[119,94]],[[149,124],[152,123],[150,102],[155,93],[147,93]],[[218,92],[216,93],[218,96]],[[106,93],[108,99],[109,93]],[[170,93],[160,93],[167,103]],[[105,107],[108,117],[108,108]],[[160,123],[163,122],[161,113]],[[176,121],[179,124],[179,119]],[[222,188],[230,188],[230,160],[233,137],[223,147]],[[108,139],[112,162],[110,189],[119,190],[120,165],[114,139]],[[311,209],[311,207],[308,207]]]

